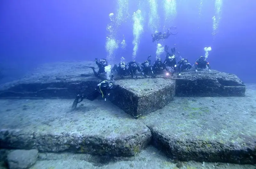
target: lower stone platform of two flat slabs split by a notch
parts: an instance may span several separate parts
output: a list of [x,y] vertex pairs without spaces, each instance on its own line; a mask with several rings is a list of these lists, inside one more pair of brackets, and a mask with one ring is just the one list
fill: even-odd
[[0,99],[0,149],[133,156],[154,145],[181,161],[256,163],[256,91],[177,97],[134,119],[103,100]]

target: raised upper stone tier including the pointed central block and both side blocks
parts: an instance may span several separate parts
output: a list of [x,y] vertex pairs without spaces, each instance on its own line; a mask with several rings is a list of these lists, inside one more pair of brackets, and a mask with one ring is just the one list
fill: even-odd
[[[0,90],[0,98],[62,98],[74,99],[77,94],[89,94],[104,79],[93,76],[90,68],[94,62],[60,62],[39,67],[33,74],[5,84]],[[245,96],[244,83],[233,74],[219,72],[183,72],[182,77],[155,79],[138,76],[138,79],[116,77],[115,105],[126,113],[139,117],[170,103],[174,96]]]

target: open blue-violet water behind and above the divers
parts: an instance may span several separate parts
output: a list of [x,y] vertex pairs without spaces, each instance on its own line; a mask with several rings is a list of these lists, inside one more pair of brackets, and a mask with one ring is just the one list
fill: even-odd
[[[0,67],[4,74],[1,82],[20,77],[45,62],[106,58],[110,13],[119,19],[120,25],[113,26],[118,45],[111,56],[115,63],[120,62],[121,57],[126,62],[132,60],[135,36],[138,36],[136,61],[143,62],[148,55],[156,55],[157,45],[152,43],[151,34],[155,30],[163,31],[164,26],[177,26],[178,34],[160,40],[162,46],[176,47],[191,63],[204,55],[204,47],[212,47],[208,57],[212,69],[234,73],[245,83],[256,82],[253,73],[256,71],[253,66],[256,61],[255,1],[164,2],[1,1]],[[134,36],[133,12],[137,10],[141,11],[142,30]],[[120,44],[123,39],[125,49]],[[115,46],[112,44],[111,48]]]

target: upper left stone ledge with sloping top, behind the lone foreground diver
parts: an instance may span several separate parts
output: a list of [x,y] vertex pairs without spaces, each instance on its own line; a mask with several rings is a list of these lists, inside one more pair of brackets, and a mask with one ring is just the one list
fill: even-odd
[[1,86],[0,98],[75,98],[94,90],[92,62],[57,62],[42,65],[19,80]]

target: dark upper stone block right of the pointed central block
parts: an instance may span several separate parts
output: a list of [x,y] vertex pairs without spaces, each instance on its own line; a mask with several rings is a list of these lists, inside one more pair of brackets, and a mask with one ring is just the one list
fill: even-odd
[[182,77],[174,75],[176,96],[226,97],[245,96],[244,83],[234,74],[217,70],[183,72]]

